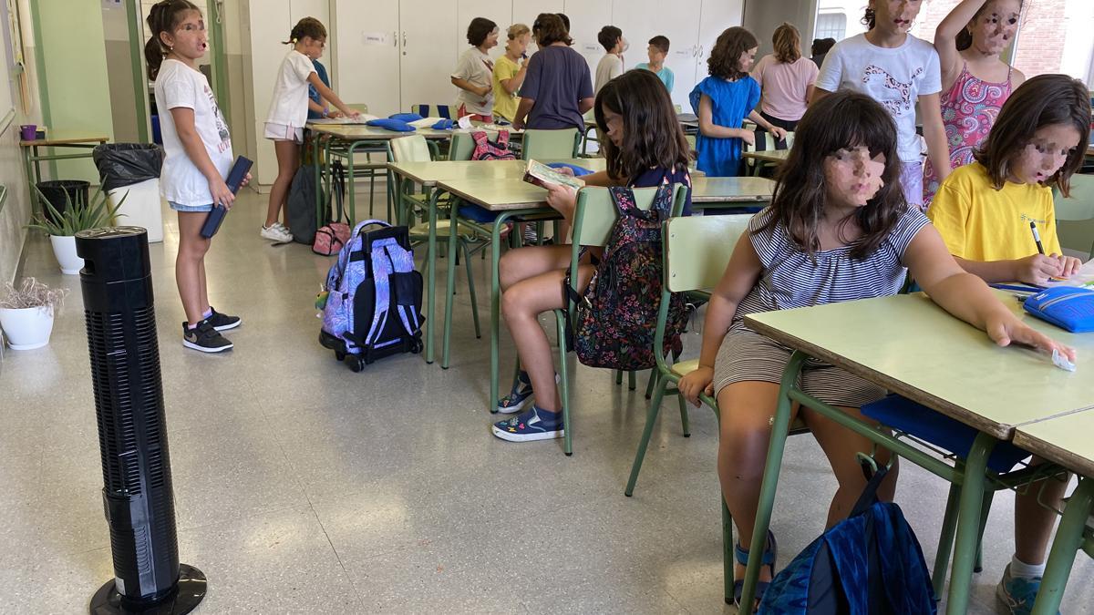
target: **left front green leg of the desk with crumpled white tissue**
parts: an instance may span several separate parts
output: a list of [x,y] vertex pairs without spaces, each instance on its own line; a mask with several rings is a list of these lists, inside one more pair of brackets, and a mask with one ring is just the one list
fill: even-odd
[[[802,371],[808,356],[801,350],[795,350],[787,362],[787,369],[782,372],[782,384],[779,387],[779,405],[775,410],[775,421],[771,423],[771,442],[767,448],[767,462],[764,465],[764,481],[759,489],[759,502],[756,507],[756,523],[753,525],[752,543],[748,545],[748,566],[745,568],[745,583],[741,593],[741,604],[745,606],[745,613],[752,613],[752,603],[756,597],[756,581],[759,580],[760,561],[764,557],[764,547],[767,545],[767,530],[771,524],[771,509],[775,507],[775,492],[779,486],[779,471],[782,467],[782,453],[787,446],[787,436],[790,433],[790,391],[798,382],[798,374]],[[733,548],[723,547],[732,558]],[[753,557],[758,554],[759,557]],[[970,570],[971,572],[971,570]],[[733,591],[730,587],[728,592],[732,600]]]

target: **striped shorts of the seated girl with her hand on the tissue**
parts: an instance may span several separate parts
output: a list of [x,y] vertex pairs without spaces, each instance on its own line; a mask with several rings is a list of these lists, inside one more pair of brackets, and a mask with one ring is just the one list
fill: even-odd
[[[737,322],[730,327],[714,360],[714,395],[737,382],[782,381],[792,350]],[[885,388],[846,370],[808,359],[798,376],[798,386],[830,406],[861,408],[885,396]]]

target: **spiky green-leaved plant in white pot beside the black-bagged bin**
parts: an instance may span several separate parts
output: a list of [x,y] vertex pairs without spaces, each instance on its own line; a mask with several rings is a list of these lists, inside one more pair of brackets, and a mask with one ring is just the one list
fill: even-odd
[[83,268],[83,258],[75,254],[75,234],[80,231],[110,224],[115,217],[119,217],[118,208],[125,202],[126,197],[121,197],[117,205],[110,207],[110,201],[103,193],[102,186],[95,190],[86,204],[80,202],[82,199],[77,199],[77,202],[73,204],[72,197],[65,193],[65,212],[62,213],[57,211],[57,208],[49,202],[49,199],[42,194],[37,186],[34,187],[34,190],[38,193],[38,200],[42,202],[43,209],[49,212],[49,216],[35,214],[33,222],[26,228],[45,231],[49,235],[49,243],[54,246],[54,256],[57,257],[57,263],[61,266],[61,272],[79,274],[80,269]]

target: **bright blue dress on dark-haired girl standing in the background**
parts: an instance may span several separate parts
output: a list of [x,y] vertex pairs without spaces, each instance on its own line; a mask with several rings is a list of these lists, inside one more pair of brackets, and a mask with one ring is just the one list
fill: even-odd
[[[688,95],[691,109],[699,115],[699,98],[701,94],[710,96],[711,119],[719,126],[741,128],[741,124],[756,104],[759,103],[759,83],[752,77],[743,77],[736,81],[726,81],[720,77],[708,77],[700,81]],[[697,169],[712,177],[732,177],[740,173],[741,149],[744,141],[737,138],[720,139],[705,137],[701,132],[696,137],[696,150],[699,152]]]

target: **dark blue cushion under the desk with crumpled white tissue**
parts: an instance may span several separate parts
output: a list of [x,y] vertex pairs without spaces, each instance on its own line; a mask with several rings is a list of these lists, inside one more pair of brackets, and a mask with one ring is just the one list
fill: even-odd
[[[862,406],[862,414],[884,426],[945,449],[962,460],[968,456],[973,440],[979,433],[956,419],[899,395],[889,395],[884,399],[866,404]],[[988,467],[999,473],[1010,472],[1029,455],[1028,451],[1010,442],[1000,442],[988,457]]]

